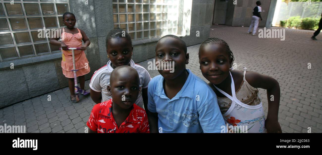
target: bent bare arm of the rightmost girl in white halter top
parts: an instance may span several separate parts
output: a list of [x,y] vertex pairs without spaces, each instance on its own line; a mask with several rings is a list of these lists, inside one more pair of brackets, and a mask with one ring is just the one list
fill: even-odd
[[268,133],[281,133],[282,130],[278,122],[280,98],[279,83],[273,77],[250,71],[246,72],[246,80],[252,87],[267,90],[268,113],[265,121],[265,127]]

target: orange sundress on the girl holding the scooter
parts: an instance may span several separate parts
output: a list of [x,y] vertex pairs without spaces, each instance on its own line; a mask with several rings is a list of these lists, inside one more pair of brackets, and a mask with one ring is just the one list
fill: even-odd
[[[69,48],[77,48],[82,46],[83,36],[81,31],[77,28],[78,33],[71,34],[66,33],[64,28],[62,29],[62,42],[65,43]],[[83,50],[74,50],[75,55],[75,68],[78,69],[76,72],[77,77],[83,76],[90,72],[89,62],[86,58]],[[62,50],[62,73],[65,77],[74,78],[73,71],[73,57],[71,50]]]

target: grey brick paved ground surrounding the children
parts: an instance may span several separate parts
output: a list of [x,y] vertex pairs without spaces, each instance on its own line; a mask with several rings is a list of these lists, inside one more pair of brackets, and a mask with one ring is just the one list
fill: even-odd
[[[283,132],[322,132],[322,35],[313,31],[286,29],[285,41],[247,34],[247,27],[211,28],[210,36],[225,40],[235,57],[237,69],[274,77],[281,87],[279,123]],[[188,69],[203,78],[199,69],[200,44],[189,46]],[[152,59],[150,59],[152,60]],[[147,61],[150,61],[147,60]],[[147,61],[138,63],[147,68]],[[311,69],[308,69],[311,63]],[[151,77],[159,73],[149,70]],[[208,82],[208,81],[207,81]],[[89,89],[89,80],[85,82]],[[267,115],[266,90],[260,89]],[[47,96],[51,95],[51,101]],[[68,87],[0,109],[0,125],[26,125],[27,132],[84,132],[94,102],[90,96],[71,103]]]

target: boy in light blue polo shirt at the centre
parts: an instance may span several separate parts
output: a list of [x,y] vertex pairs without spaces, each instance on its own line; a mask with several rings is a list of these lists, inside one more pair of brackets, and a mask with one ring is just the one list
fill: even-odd
[[185,68],[188,60],[187,46],[179,37],[166,35],[158,41],[156,61],[175,65],[158,70],[161,75],[148,85],[150,132],[221,132],[225,126],[216,94]]

